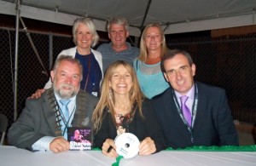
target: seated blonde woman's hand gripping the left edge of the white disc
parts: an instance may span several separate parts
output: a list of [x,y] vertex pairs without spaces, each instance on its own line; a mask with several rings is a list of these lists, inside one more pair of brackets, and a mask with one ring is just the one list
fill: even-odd
[[116,146],[113,140],[107,139],[102,145],[102,153],[108,157],[118,157],[118,153],[115,151]]

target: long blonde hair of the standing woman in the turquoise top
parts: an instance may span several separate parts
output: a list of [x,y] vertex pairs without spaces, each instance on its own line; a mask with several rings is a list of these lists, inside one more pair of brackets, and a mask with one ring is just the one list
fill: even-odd
[[149,27],[157,27],[160,31],[160,36],[162,38],[160,57],[162,58],[163,55],[168,50],[168,48],[166,47],[166,37],[165,37],[164,31],[162,30],[160,24],[159,23],[148,24],[148,26],[146,26],[145,29],[143,30],[143,34],[142,34],[141,42],[140,42],[140,55],[138,57],[138,60],[141,60],[143,62],[145,62],[147,60],[147,57],[148,57],[148,49],[146,47],[145,38],[146,38],[146,35],[147,35],[146,32],[148,31]]

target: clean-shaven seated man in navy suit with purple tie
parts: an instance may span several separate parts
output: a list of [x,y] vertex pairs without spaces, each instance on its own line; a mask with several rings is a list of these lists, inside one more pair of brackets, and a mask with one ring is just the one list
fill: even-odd
[[161,70],[171,87],[153,104],[167,146],[238,146],[224,89],[194,82],[195,64],[188,52],[169,50]]

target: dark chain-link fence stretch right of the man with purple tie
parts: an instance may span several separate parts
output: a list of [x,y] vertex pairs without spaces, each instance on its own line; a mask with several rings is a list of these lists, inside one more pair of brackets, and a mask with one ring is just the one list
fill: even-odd
[[256,122],[256,34],[172,38],[167,43],[170,49],[189,51],[196,81],[226,90],[234,119]]

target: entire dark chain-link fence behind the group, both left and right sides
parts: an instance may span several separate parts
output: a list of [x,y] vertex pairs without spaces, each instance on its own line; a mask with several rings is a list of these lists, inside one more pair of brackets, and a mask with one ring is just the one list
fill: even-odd
[[[50,33],[30,33],[44,67],[50,70],[63,49],[74,47],[73,38]],[[15,30],[0,28],[1,106],[0,112],[14,122]],[[166,37],[169,38],[169,37]],[[226,90],[234,119],[255,123],[256,119],[256,34],[214,38],[173,37],[166,39],[170,49],[185,49],[196,65],[195,80]],[[25,32],[19,32],[17,111],[37,89],[44,88],[49,76],[43,73]],[[48,71],[49,72],[49,71]]]

